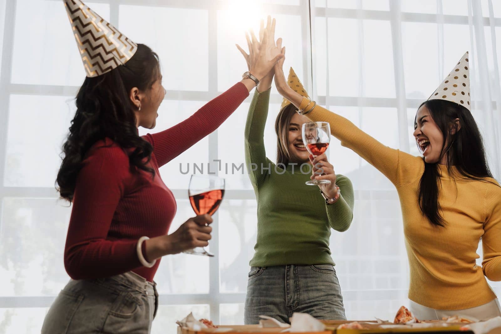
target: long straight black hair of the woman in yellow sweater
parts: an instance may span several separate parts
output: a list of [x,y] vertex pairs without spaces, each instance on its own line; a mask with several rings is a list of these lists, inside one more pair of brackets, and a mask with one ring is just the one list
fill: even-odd
[[[446,156],[449,174],[455,173],[451,169],[451,166],[454,166],[460,177],[493,183],[486,180],[486,178],[492,178],[492,174],[485,157],[482,136],[469,110],[457,103],[445,100],[428,100],[421,103],[419,108],[423,105],[428,108],[431,117],[442,132],[442,147],[445,149],[440,158]],[[460,128],[451,134],[450,127],[454,126],[456,118],[459,119]],[[414,118],[415,122],[416,118]],[[432,224],[444,227],[446,222],[439,212],[439,182],[440,172],[437,163],[424,162],[424,173],[419,184],[419,207]]]

